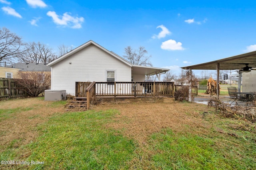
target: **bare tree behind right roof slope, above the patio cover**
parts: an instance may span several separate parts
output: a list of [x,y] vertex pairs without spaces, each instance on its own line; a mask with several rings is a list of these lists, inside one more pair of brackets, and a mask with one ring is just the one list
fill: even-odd
[[150,62],[151,55],[147,55],[148,51],[145,50],[145,47],[140,46],[138,50],[132,49],[130,46],[124,48],[124,59],[130,61],[134,65],[140,66],[152,66]]

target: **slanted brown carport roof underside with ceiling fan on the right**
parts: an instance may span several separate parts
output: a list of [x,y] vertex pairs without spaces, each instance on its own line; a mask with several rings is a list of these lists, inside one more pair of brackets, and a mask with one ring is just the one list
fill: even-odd
[[220,63],[220,70],[240,70],[245,67],[246,64],[248,64],[249,67],[254,68],[256,67],[256,51],[181,68],[186,70],[190,68],[192,70],[216,70],[216,63]]

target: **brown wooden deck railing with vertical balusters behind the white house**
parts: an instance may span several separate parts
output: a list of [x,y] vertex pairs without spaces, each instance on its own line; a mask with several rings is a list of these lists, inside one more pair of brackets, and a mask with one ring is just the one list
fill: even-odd
[[[76,97],[86,97],[89,82],[76,82]],[[88,89],[87,89],[88,90]],[[95,82],[95,96],[174,96],[173,82]]]

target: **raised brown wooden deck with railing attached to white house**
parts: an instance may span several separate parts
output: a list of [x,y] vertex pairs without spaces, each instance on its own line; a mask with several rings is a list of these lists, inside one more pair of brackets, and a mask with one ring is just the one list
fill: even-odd
[[87,108],[95,101],[173,102],[175,87],[174,82],[76,82],[75,97],[86,100]]

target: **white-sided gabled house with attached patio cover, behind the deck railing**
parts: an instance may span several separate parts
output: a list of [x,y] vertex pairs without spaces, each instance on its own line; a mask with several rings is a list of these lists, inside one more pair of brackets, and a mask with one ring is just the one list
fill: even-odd
[[157,75],[169,69],[133,65],[112,51],[88,41],[80,47],[50,62],[52,90],[66,90],[75,95],[76,82],[142,82],[145,76]]

